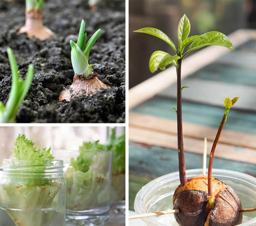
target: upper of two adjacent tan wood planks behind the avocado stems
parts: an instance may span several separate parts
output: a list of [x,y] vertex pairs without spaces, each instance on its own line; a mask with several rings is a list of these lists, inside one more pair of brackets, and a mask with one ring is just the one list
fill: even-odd
[[[129,114],[129,126],[151,131],[159,131],[177,135],[177,121],[159,118],[151,115],[142,115],[134,112]],[[214,141],[217,129],[192,123],[183,123],[183,135],[185,137]],[[219,143],[256,149],[256,135],[223,130]]]

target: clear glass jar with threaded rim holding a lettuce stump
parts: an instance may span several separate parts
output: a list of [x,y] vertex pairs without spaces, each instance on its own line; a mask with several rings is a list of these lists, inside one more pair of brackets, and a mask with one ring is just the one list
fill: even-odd
[[3,160],[0,226],[65,226],[62,160]]

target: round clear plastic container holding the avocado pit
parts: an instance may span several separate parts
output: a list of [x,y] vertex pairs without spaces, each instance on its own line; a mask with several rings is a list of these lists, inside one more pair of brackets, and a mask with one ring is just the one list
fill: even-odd
[[[186,174],[188,178],[199,176],[202,175],[202,169],[190,169],[186,171]],[[236,191],[243,209],[256,207],[255,177],[225,169],[213,169],[212,175]],[[166,174],[150,181],[136,195],[135,212],[143,214],[172,209],[173,194],[179,184],[179,172]],[[149,226],[178,226],[173,214],[147,217],[142,220]],[[256,212],[243,213],[243,221],[240,226],[255,225]]]

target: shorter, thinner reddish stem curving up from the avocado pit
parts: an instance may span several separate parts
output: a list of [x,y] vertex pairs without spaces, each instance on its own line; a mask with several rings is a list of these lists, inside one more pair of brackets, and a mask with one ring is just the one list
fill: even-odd
[[216,149],[216,146],[217,146],[217,143],[220,139],[220,134],[221,134],[221,131],[223,129],[223,126],[227,120],[227,116],[228,114],[225,113],[223,115],[223,118],[222,118],[222,121],[219,125],[219,129],[218,129],[218,132],[216,134],[216,137],[215,137],[215,140],[213,142],[213,145],[212,145],[212,149],[211,149],[211,154],[210,154],[210,159],[209,159],[209,166],[208,166],[208,197],[209,197],[209,204],[211,207],[213,207],[213,204],[214,204],[214,199],[215,197],[213,196],[212,194],[212,180],[211,180],[211,177],[212,177],[212,164],[213,164],[213,156],[214,156],[214,152],[215,152],[215,149]]

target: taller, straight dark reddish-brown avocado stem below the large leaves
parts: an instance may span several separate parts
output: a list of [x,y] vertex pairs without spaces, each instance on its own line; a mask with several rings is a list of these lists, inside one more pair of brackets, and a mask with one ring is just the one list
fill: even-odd
[[178,59],[179,67],[177,68],[177,133],[178,133],[180,184],[181,186],[183,186],[188,181],[186,177],[183,131],[182,131],[181,62],[182,62],[182,59]]

